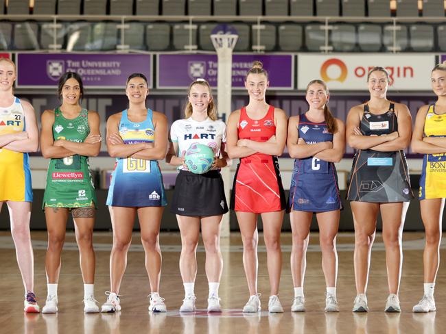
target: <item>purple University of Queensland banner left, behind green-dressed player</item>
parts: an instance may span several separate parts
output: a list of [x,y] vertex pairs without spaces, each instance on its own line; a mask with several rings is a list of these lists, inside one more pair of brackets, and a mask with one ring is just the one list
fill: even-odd
[[16,64],[17,88],[56,87],[67,71],[78,73],[91,88],[125,88],[128,75],[143,73],[152,88],[152,55],[19,53]]

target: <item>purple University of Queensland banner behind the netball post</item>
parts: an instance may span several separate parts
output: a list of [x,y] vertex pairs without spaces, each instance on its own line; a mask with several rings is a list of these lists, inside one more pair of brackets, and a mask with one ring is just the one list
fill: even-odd
[[[270,88],[294,88],[294,55],[233,55],[233,88],[244,88],[246,73],[260,60],[268,71]],[[187,88],[191,81],[207,79],[217,87],[217,55],[158,55],[156,87]]]

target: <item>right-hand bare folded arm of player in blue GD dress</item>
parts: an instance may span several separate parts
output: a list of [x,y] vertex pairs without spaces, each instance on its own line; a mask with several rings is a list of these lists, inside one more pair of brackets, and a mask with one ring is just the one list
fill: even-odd
[[153,146],[132,154],[132,157],[146,160],[161,160],[166,157],[169,141],[167,140],[167,117],[160,112],[153,112],[155,138]]

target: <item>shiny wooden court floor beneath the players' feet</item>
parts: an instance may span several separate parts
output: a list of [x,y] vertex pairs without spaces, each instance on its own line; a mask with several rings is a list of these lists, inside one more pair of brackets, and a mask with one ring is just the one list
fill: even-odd
[[[35,292],[43,307],[46,297],[45,232],[32,233],[35,257]],[[95,294],[99,303],[105,301],[109,289],[108,257],[111,233],[95,233],[96,281]],[[165,298],[167,314],[152,314],[147,310],[148,278],[143,266],[144,254],[139,234],[134,233],[133,245],[128,255],[128,267],[120,294],[122,311],[115,314],[83,313],[83,286],[78,266],[78,251],[73,233],[68,233],[62,253],[62,270],[59,281],[59,313],[57,315],[26,315],[23,313],[23,287],[16,265],[10,233],[0,232],[0,333],[69,334],[69,333],[445,333],[446,332],[446,270],[441,264],[436,283],[434,313],[414,314],[412,306],[423,292],[422,233],[404,233],[403,276],[401,278],[400,314],[384,313],[387,297],[384,246],[378,235],[372,252],[371,277],[368,285],[368,313],[352,313],[355,297],[353,275],[353,234],[338,235],[338,302],[340,313],[324,313],[325,283],[320,268],[321,254],[317,246],[318,235],[312,234],[307,253],[305,281],[305,313],[292,313],[292,277],[290,273],[291,235],[282,237],[283,270],[279,297],[285,309],[283,314],[268,315],[268,274],[266,253],[259,246],[259,292],[262,312],[243,314],[248,290],[242,265],[242,242],[238,233],[222,240],[224,271],[220,285],[220,298],[224,308],[221,314],[208,315],[207,279],[204,274],[204,251],[198,248],[198,276],[196,280],[197,308],[194,314],[180,315],[178,308],[183,299],[183,284],[178,269],[180,237],[178,233],[163,233],[163,272],[161,296]],[[441,249],[446,261],[445,246]],[[202,289],[200,289],[202,287]]]

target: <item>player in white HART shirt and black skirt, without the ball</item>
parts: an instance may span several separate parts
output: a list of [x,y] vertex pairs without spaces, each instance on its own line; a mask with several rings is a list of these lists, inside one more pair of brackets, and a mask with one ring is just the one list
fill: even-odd
[[[218,287],[222,277],[220,222],[228,211],[220,168],[227,164],[226,125],[217,119],[211,87],[204,79],[193,81],[187,92],[186,118],[176,120],[170,129],[170,149],[166,161],[177,166],[171,211],[176,214],[181,233],[180,272],[185,287],[181,312],[195,311],[193,288],[197,276],[196,250],[201,235],[206,251],[206,275],[209,283],[209,312],[220,312]],[[207,145],[215,154],[211,170],[193,174],[185,166],[184,155],[193,143]]]

